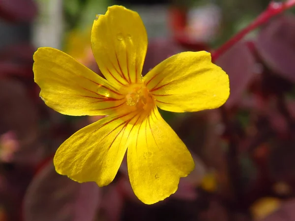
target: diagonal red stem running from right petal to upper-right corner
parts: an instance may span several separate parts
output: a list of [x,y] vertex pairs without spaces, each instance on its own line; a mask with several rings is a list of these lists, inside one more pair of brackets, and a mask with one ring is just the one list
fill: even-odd
[[247,33],[258,28],[259,26],[265,24],[270,18],[282,13],[283,11],[295,6],[295,0],[287,0],[285,2],[275,2],[271,1],[266,8],[252,23],[250,23],[246,28],[243,28],[236,35],[234,35],[230,40],[224,43],[221,47],[212,53],[212,60],[215,61],[220,55],[229,50],[236,42],[241,40]]

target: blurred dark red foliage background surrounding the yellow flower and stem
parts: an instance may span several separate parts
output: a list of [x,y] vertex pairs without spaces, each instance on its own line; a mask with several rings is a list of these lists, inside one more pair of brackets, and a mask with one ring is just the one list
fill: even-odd
[[161,111],[196,169],[171,197],[145,205],[126,164],[107,187],[56,173],[59,145],[101,117],[48,108],[32,55],[53,47],[101,75],[90,48],[95,14],[137,11],[148,32],[143,75],[182,51],[214,52],[268,0],[0,0],[0,221],[295,221],[295,10],[245,36],[214,62],[231,95],[217,109]]

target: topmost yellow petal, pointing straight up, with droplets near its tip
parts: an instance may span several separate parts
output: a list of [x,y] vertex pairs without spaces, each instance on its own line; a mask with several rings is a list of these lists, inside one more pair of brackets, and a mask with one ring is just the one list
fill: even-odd
[[118,86],[142,81],[148,37],[137,12],[118,5],[108,7],[106,14],[93,23],[91,45],[108,81]]

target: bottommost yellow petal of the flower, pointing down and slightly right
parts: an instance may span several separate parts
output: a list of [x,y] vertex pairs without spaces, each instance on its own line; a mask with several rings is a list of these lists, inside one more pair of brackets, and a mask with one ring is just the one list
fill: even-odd
[[129,179],[135,195],[146,204],[175,193],[179,178],[194,169],[191,154],[157,108],[135,126],[130,138],[127,151]]

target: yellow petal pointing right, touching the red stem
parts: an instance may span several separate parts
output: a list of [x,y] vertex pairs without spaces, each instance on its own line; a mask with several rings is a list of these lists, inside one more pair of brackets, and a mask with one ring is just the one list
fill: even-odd
[[185,112],[214,109],[229,97],[228,75],[211,63],[207,52],[173,55],[144,77],[159,108]]

